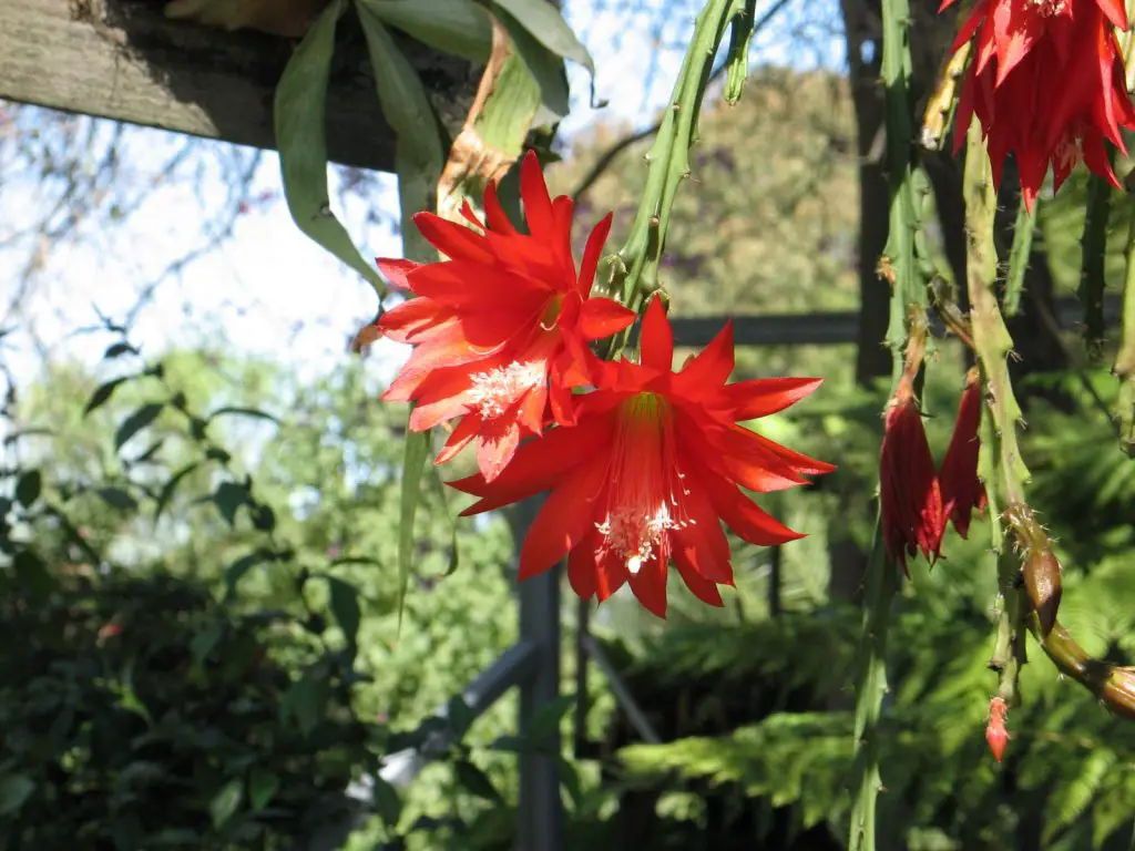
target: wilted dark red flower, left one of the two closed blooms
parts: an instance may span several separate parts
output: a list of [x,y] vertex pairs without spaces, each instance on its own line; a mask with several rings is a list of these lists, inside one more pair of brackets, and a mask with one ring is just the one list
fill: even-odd
[[903,377],[891,399],[878,458],[883,544],[903,572],[907,556],[919,549],[934,563],[941,555],[945,525],[934,458],[911,381]]

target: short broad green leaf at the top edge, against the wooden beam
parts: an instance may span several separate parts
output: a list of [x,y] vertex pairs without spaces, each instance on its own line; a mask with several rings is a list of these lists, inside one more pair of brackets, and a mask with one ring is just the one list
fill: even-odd
[[371,11],[422,44],[484,65],[493,24],[472,0],[362,0]]

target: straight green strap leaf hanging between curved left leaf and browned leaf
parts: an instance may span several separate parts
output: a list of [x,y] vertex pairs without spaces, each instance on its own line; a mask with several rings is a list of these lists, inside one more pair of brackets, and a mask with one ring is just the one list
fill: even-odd
[[413,226],[412,217],[436,207],[437,182],[446,157],[437,115],[418,71],[382,26],[369,0],[360,0],[359,19],[367,36],[378,101],[397,137],[394,161],[398,172],[403,254],[421,263],[430,262],[437,260],[437,252]]

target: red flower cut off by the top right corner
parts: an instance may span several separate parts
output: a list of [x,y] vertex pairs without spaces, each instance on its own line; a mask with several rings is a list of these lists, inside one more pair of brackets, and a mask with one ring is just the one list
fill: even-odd
[[958,102],[955,148],[976,115],[994,183],[1014,153],[1029,209],[1050,163],[1058,189],[1081,159],[1119,186],[1104,140],[1126,153],[1120,127],[1135,129],[1135,107],[1112,25],[1127,28],[1121,0],[980,0],[958,33],[955,50],[975,35],[977,41]]

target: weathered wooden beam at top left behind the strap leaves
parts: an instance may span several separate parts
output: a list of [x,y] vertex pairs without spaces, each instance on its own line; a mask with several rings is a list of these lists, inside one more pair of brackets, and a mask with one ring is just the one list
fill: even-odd
[[[167,20],[161,0],[0,0],[0,98],[274,149],[272,95],[294,42]],[[340,23],[327,102],[333,161],[389,171],[382,119],[352,15]],[[477,76],[404,41],[456,132]]]

